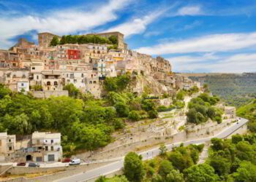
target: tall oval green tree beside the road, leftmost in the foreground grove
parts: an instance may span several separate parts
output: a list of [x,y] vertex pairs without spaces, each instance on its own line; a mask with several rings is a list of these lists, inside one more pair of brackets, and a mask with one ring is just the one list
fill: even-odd
[[129,181],[142,181],[145,171],[138,154],[129,152],[124,158],[124,175]]

